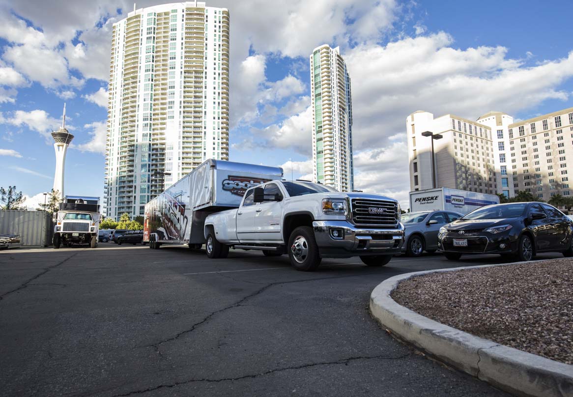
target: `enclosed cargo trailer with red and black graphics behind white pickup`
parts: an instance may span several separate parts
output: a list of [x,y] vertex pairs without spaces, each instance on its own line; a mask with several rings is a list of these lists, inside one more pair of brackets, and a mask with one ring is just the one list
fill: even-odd
[[199,247],[207,215],[237,208],[248,188],[273,179],[282,168],[206,160],[146,204],[143,241]]

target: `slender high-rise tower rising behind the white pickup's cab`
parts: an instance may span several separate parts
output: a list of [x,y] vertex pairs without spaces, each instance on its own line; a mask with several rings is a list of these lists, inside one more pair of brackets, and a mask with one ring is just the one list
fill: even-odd
[[314,181],[354,189],[350,76],[340,49],[322,45],[311,55]]

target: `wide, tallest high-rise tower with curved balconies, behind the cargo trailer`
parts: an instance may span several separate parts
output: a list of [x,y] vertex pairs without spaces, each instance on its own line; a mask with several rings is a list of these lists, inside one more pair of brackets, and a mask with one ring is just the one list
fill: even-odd
[[203,160],[229,159],[229,10],[180,2],[113,25],[106,215],[144,205]]

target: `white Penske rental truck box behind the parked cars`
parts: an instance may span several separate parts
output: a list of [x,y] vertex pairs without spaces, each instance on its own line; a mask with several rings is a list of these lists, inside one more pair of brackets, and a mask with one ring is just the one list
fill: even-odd
[[500,198],[494,194],[440,187],[410,192],[410,212],[454,211],[468,214],[483,206],[499,204]]

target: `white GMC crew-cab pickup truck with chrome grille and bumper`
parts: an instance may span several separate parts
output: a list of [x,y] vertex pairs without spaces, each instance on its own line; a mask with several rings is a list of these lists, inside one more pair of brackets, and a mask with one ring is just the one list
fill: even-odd
[[229,248],[285,252],[297,270],[315,270],[322,258],[359,256],[384,266],[402,249],[398,202],[377,194],[341,193],[305,181],[272,180],[245,192],[238,209],[205,219],[209,258]]

